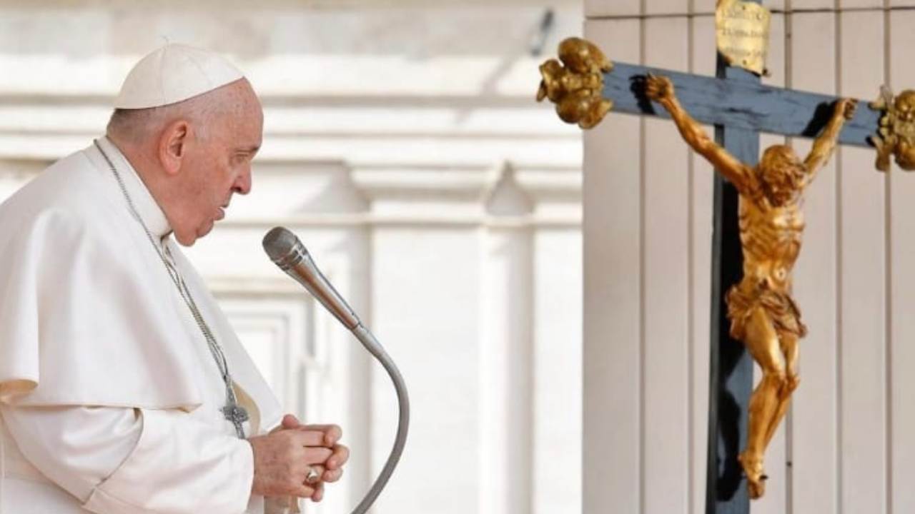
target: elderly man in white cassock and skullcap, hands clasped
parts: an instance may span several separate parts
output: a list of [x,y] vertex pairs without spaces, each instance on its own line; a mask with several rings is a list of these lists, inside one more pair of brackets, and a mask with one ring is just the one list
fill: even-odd
[[251,189],[264,119],[251,84],[167,45],[115,107],[107,137],[0,205],[0,512],[320,500],[348,458],[339,427],[280,419],[174,241],[193,244]]

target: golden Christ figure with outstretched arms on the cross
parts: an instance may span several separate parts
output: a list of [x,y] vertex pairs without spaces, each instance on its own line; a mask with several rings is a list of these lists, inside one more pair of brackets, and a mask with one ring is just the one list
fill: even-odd
[[804,227],[802,192],[833,153],[845,120],[857,102],[836,102],[826,128],[801,161],[790,146],[772,145],[759,166],[747,166],[708,137],[684,111],[667,77],[649,76],[648,98],[671,113],[687,144],[704,156],[740,194],[740,244],[743,279],[727,292],[731,337],[743,341],[762,369],[762,380],[749,401],[747,448],[738,460],[747,476],[750,498],[765,490],[762,456],[798,386],[798,339],[807,333],[791,299],[791,269],[801,251]]

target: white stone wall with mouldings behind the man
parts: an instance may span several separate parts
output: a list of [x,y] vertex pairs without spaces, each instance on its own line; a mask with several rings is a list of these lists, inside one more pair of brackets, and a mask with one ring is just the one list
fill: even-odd
[[[349,469],[312,512],[361,498],[396,411],[382,369],[265,258],[275,224],[410,388],[376,512],[580,510],[581,144],[533,102],[545,3],[318,4],[0,4],[0,195],[90,145],[163,37],[227,53],[261,94],[264,148],[253,193],[188,254],[286,407],[344,427]],[[546,54],[580,31],[557,4]]]

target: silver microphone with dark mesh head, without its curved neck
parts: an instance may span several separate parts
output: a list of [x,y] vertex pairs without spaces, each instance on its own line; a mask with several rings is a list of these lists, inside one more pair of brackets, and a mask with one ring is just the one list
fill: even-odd
[[296,234],[283,227],[275,227],[264,236],[264,252],[281,270],[304,285],[308,293],[317,298],[344,327],[352,330],[361,325],[359,316],[352,312],[350,305],[318,270]]

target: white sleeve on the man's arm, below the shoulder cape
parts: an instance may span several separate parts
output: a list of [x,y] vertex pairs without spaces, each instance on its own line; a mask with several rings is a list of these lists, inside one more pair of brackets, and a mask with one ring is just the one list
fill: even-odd
[[182,411],[0,407],[23,455],[97,514],[240,514],[253,453]]

